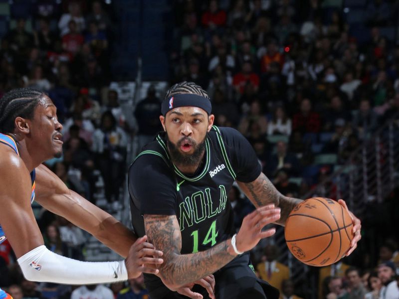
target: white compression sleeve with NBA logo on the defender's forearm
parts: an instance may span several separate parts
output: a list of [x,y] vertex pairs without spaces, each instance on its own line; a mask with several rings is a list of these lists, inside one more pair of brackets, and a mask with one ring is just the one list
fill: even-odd
[[125,261],[82,262],[55,254],[44,245],[29,251],[17,261],[24,277],[36,282],[87,285],[128,279]]

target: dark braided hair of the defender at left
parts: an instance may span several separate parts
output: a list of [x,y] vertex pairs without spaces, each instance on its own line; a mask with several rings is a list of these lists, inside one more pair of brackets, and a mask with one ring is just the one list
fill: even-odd
[[32,88],[17,88],[5,93],[0,99],[0,133],[14,131],[16,117],[32,119],[33,112],[44,94]]

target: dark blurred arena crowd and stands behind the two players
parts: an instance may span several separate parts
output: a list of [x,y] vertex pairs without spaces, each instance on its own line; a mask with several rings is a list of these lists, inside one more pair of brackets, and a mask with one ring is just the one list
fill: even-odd
[[[161,129],[166,89],[194,81],[211,98],[215,124],[248,139],[280,192],[343,198],[362,220],[358,249],[324,268],[298,262],[278,227],[252,252],[257,275],[284,298],[379,298],[399,266],[398,7],[398,0],[0,0],[0,96],[17,87],[46,92],[64,125],[63,156],[46,165],[131,227],[127,167]],[[237,187],[228,196],[239,228],[253,206]],[[120,259],[65,219],[33,209],[50,250]],[[142,278],[77,289],[27,282],[7,242],[0,287],[14,299],[147,296]]]

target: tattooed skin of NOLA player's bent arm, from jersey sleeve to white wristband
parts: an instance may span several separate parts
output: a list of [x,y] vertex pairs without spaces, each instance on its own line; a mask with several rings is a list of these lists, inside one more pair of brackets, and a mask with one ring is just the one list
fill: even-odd
[[164,252],[159,276],[171,290],[212,274],[236,256],[230,239],[206,251],[182,255],[182,235],[175,215],[144,215],[144,224],[149,242]]

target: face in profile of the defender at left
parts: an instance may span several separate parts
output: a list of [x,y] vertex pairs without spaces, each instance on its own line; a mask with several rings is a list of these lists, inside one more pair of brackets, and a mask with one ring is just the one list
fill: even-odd
[[41,150],[44,159],[61,156],[61,129],[57,109],[49,97],[43,96],[35,108],[29,133],[35,150]]

